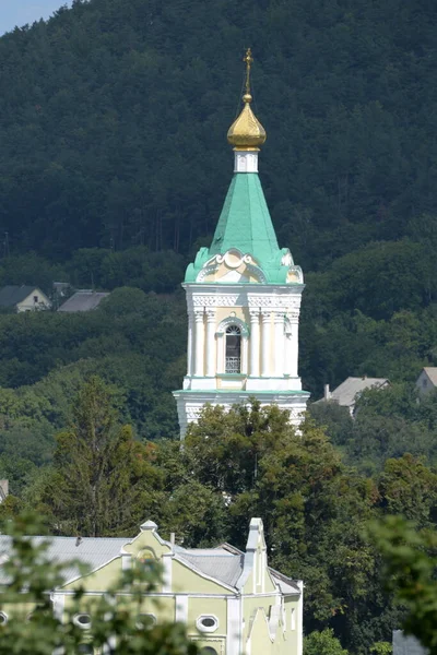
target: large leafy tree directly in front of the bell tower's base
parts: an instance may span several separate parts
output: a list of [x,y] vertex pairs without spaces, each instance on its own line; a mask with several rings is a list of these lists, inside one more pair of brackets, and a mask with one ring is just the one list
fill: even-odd
[[189,427],[182,457],[186,471],[225,500],[231,543],[243,548],[247,516],[263,517],[272,565],[305,580],[307,630],[335,627],[355,651],[387,638],[387,597],[368,633],[357,629],[368,618],[369,585],[378,585],[362,535],[377,489],[344,466],[320,429],[308,421],[296,434],[287,413],[255,401],[227,414],[211,407]]

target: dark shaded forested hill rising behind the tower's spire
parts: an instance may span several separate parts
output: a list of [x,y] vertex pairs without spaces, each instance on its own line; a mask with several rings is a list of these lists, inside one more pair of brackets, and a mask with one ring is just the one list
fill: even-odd
[[437,7],[426,0],[75,0],[0,39],[0,228],[13,249],[187,252],[211,234],[243,49],[261,169],[305,270],[423,236],[436,211]]

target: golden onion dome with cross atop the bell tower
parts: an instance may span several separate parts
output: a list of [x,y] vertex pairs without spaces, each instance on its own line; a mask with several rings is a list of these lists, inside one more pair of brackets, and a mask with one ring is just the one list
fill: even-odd
[[253,61],[250,48],[244,58],[246,62],[246,93],[243,96],[245,106],[241,114],[233,122],[228,132],[227,141],[234,146],[234,150],[259,150],[267,139],[265,130],[251,110],[250,103],[250,66]]

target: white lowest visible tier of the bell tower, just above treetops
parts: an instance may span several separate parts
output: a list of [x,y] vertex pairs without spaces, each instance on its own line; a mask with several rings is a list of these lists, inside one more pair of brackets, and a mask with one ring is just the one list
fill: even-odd
[[257,398],[261,407],[268,405],[277,405],[280,409],[290,412],[290,422],[299,427],[304,419],[304,413],[307,408],[309,392],[307,391],[225,391],[225,390],[180,390],[173,392],[176,398],[180,439],[185,438],[188,424],[197,422],[202,412],[203,405],[223,405],[225,409],[231,409],[238,403],[247,403],[250,398]]

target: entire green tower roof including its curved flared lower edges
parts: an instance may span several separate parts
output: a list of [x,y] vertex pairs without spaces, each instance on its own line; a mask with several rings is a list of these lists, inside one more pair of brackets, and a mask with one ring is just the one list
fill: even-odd
[[234,174],[211,247],[199,250],[196,261],[187,269],[185,282],[196,282],[211,258],[231,249],[250,254],[262,270],[267,284],[286,284],[291,267],[302,279],[302,271],[294,265],[290,250],[277,245],[257,172]]

